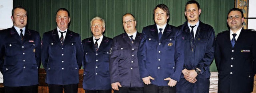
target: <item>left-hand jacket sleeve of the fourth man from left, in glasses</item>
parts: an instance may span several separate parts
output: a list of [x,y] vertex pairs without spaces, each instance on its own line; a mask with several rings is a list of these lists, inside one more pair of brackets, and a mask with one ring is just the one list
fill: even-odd
[[119,70],[118,70],[118,62],[120,58],[118,57],[117,51],[117,39],[113,39],[112,47],[110,49],[110,63],[109,63],[109,71],[110,71],[110,81],[111,83],[119,82]]

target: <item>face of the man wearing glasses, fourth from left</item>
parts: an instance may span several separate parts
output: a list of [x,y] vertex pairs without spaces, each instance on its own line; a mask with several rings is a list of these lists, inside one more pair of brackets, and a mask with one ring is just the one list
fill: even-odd
[[123,17],[123,26],[126,33],[136,32],[136,21],[132,15],[126,15]]

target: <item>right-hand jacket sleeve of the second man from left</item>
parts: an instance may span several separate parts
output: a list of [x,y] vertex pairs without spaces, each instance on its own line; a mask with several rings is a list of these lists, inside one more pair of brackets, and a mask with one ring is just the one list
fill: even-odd
[[80,35],[78,35],[76,42],[77,42],[77,44],[76,44],[76,61],[78,64],[78,68],[80,69],[82,66],[83,54],[84,54],[84,49],[83,49]]

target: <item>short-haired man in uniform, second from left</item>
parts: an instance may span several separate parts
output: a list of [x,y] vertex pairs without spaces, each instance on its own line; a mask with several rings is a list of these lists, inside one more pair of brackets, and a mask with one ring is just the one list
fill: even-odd
[[42,39],[42,64],[46,70],[49,93],[77,93],[82,66],[81,37],[68,29],[70,14],[65,8],[56,12],[57,28],[44,33]]

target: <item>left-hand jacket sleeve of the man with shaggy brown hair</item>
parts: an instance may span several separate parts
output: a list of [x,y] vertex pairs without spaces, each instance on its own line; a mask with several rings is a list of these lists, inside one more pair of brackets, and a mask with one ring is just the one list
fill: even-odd
[[150,76],[148,70],[146,68],[146,29],[142,30],[142,40],[140,41],[140,45],[138,47],[138,65],[140,70],[140,78]]

